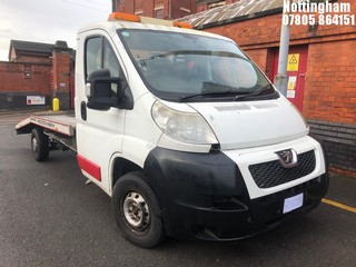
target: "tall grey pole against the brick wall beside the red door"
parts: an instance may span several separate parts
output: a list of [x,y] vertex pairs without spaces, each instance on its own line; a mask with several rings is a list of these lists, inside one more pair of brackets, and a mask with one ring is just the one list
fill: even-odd
[[[284,1],[284,4],[287,4]],[[286,9],[283,9],[283,17],[288,14]],[[289,32],[290,24],[285,24],[281,18],[280,27],[280,42],[279,42],[279,58],[278,58],[278,73],[275,77],[275,86],[278,91],[287,97],[287,87],[288,87],[288,76],[287,76],[287,61],[288,61],[288,51],[289,51]]]

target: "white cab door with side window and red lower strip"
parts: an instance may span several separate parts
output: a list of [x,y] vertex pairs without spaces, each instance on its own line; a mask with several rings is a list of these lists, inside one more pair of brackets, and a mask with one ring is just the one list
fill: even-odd
[[[86,88],[82,90],[86,90],[87,98],[81,99],[81,118],[77,123],[78,162],[85,175],[108,192],[109,164],[112,155],[121,152],[126,110],[112,107],[103,110],[89,108],[90,83],[87,79],[92,71],[99,69],[109,70],[111,78],[120,78],[125,82],[126,77],[116,48],[108,36],[98,32],[88,37],[83,46]],[[112,97],[118,97],[117,88],[111,86]]]

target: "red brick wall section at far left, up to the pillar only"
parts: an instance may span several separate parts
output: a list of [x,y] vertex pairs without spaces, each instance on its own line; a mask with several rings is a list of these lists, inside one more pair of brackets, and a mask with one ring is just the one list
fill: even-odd
[[[29,70],[26,77],[24,70]],[[27,107],[27,96],[51,97],[51,65],[0,62],[0,109]]]

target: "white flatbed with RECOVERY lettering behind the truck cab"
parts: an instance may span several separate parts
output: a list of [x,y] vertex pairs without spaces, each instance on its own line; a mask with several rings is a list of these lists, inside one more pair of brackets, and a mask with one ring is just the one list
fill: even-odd
[[30,115],[30,117],[17,123],[14,129],[18,135],[30,134],[34,127],[39,126],[48,131],[73,137],[76,135],[76,123],[73,111],[46,111]]

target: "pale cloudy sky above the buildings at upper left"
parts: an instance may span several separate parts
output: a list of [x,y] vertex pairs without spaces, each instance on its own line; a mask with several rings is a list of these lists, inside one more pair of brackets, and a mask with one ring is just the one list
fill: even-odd
[[8,61],[10,40],[63,40],[76,49],[78,29],[110,12],[111,0],[0,0],[0,61]]

